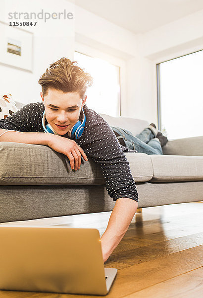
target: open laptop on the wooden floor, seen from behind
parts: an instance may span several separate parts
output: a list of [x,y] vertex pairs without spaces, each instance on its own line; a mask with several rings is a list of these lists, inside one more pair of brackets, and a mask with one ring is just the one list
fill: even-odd
[[106,295],[116,274],[98,229],[0,226],[0,290]]

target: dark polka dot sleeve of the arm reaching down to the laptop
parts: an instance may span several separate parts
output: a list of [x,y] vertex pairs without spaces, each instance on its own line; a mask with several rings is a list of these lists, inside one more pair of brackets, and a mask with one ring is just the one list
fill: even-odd
[[138,202],[137,188],[128,160],[107,122],[103,120],[95,123],[86,138],[88,143],[81,147],[100,165],[108,195],[113,201],[130,198]]

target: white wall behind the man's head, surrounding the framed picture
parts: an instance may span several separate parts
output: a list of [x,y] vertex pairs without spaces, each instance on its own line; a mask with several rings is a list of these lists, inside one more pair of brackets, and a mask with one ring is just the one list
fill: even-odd
[[[1,0],[0,20],[8,23],[8,12],[60,12],[66,9],[74,14],[74,4],[66,0]],[[22,27],[21,27],[22,28]],[[74,20],[37,20],[36,26],[23,27],[34,33],[33,73],[0,65],[0,94],[11,93],[22,103],[41,101],[40,76],[46,68],[61,57],[73,59]]]

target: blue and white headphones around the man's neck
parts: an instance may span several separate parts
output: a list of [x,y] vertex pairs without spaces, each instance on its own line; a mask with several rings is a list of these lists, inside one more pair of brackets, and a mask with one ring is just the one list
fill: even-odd
[[[79,139],[83,132],[84,132],[84,129],[85,129],[85,123],[86,123],[86,116],[85,116],[85,113],[84,113],[84,110],[82,108],[81,110],[83,112],[83,120],[82,122],[80,120],[78,120],[78,122],[68,131],[68,136],[72,139]],[[48,123],[47,124],[47,127],[45,127],[45,118],[46,118],[46,115],[45,115],[45,111],[43,113],[43,118],[42,118],[42,126],[43,126],[43,129],[46,133],[51,133],[51,134],[54,134],[54,135],[59,135],[58,133],[56,133],[56,131],[51,127],[51,125]]]

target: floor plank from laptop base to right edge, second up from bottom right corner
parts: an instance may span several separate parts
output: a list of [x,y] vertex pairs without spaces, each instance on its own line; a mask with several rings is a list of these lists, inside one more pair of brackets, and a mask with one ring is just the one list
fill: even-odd
[[121,269],[108,298],[125,297],[200,268],[203,265],[202,255],[203,245]]

